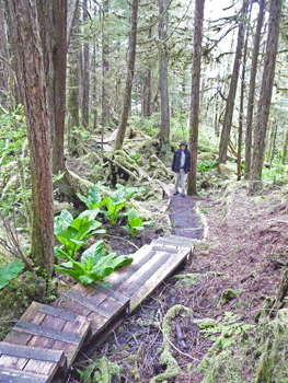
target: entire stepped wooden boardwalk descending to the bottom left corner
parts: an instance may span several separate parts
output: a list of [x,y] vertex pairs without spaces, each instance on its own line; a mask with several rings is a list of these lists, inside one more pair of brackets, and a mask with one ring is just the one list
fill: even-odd
[[58,382],[83,343],[137,307],[193,251],[193,239],[159,237],[113,272],[110,287],[76,285],[57,307],[33,302],[0,343],[0,383]]

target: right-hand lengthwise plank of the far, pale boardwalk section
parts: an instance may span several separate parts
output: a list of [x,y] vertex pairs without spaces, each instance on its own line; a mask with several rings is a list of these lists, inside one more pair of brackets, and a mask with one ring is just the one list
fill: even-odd
[[139,289],[130,297],[130,310],[136,309],[162,281],[168,278],[178,265],[185,260],[186,251],[178,252],[171,256]]

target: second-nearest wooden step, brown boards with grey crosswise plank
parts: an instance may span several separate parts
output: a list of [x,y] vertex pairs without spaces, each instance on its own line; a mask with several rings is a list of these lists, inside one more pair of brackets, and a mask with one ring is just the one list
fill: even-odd
[[33,302],[8,334],[5,341],[62,350],[70,365],[90,328],[91,322],[84,316]]

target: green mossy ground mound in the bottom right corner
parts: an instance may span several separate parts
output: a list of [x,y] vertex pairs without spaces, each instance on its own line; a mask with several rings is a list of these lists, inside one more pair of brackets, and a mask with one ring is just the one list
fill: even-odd
[[201,383],[287,383],[287,309],[278,311],[275,320],[266,316],[238,335],[223,332],[198,365],[206,373]]

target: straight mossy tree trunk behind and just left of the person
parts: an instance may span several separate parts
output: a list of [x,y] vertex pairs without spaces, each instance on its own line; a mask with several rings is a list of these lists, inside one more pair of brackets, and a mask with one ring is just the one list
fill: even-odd
[[159,88],[160,88],[160,107],[161,126],[160,142],[163,147],[170,141],[170,112],[169,112],[169,92],[168,92],[168,62],[169,51],[166,46],[168,38],[168,0],[159,0]]

